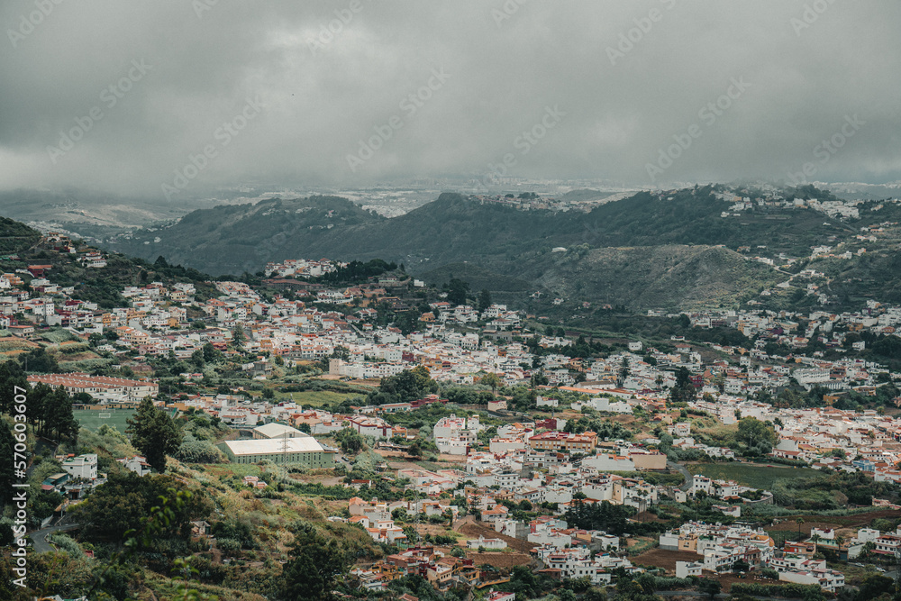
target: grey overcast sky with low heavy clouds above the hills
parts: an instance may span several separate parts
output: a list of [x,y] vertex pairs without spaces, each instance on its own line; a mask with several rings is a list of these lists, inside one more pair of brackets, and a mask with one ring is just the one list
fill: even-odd
[[5,0],[0,23],[2,189],[177,198],[505,158],[640,186],[901,179],[896,0]]

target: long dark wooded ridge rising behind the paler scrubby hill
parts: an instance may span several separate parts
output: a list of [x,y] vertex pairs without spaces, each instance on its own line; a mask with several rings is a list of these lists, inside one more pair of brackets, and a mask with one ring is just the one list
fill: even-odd
[[[660,244],[764,244],[807,251],[836,232],[813,211],[749,212],[724,219],[728,206],[710,187],[642,192],[591,213],[519,211],[458,194],[387,219],[331,196],[221,206],[187,214],[174,225],[135,232],[112,246],[159,254],[214,274],[262,269],[268,260],[328,256],[403,262],[417,271],[465,260],[504,260],[523,252],[587,243],[591,247]],[[240,256],[239,256],[240,255]]]

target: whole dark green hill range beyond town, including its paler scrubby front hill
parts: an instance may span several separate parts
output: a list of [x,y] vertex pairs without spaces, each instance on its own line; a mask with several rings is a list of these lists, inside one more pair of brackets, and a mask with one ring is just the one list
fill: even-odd
[[333,196],[274,199],[198,210],[113,248],[214,275],[253,273],[275,260],[379,258],[430,284],[467,274],[472,289],[517,297],[548,289],[642,307],[734,305],[776,274],[733,250],[799,256],[856,231],[813,210],[753,205],[723,217],[732,201],[717,189],[642,192],[587,214],[522,211],[445,193],[391,219]]

